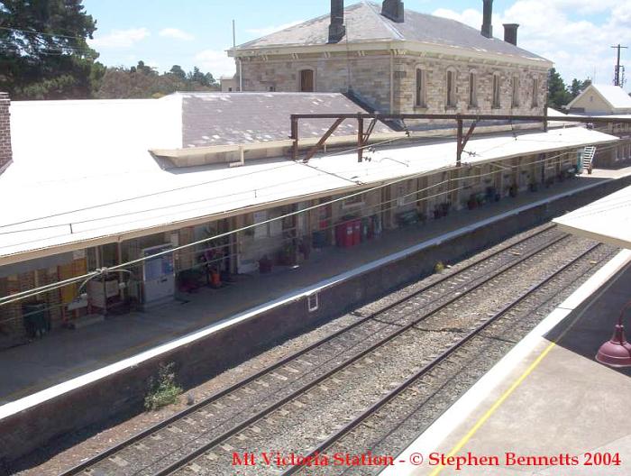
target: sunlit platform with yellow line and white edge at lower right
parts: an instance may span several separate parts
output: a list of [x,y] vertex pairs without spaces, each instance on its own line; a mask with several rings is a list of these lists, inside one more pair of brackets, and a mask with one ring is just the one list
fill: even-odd
[[[630,298],[626,250],[547,316],[381,476],[631,474],[631,370],[595,361]],[[409,461],[417,453],[423,462],[415,467]],[[526,459],[519,463],[517,457]]]

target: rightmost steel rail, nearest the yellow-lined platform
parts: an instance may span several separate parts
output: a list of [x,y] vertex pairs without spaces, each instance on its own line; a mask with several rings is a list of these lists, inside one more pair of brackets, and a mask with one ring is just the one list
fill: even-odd
[[[388,395],[381,398],[378,402],[376,402],[375,404],[373,404],[372,406],[364,410],[360,416],[354,418],[351,422],[344,425],[342,428],[340,428],[340,430],[334,433],[334,435],[329,436],[323,443],[318,444],[317,447],[315,447],[315,449],[313,449],[310,453],[306,454],[305,458],[313,456],[315,453],[324,453],[328,447],[332,446],[335,442],[341,440],[343,436],[350,433],[357,426],[360,426],[364,420],[369,418],[372,414],[376,413],[381,407],[389,403],[390,400],[397,398],[400,393],[402,393],[404,390],[410,387],[416,380],[423,377],[425,373],[433,370],[436,365],[438,365],[439,363],[447,359],[447,357],[449,357],[454,351],[461,348],[462,345],[471,341],[473,337],[480,334],[483,330],[489,327],[489,325],[495,323],[496,321],[498,321],[498,319],[508,314],[508,312],[513,307],[517,307],[522,301],[526,300],[526,298],[529,298],[536,291],[543,288],[547,283],[549,283],[554,278],[559,276],[562,272],[564,272],[565,270],[568,270],[577,261],[581,261],[585,256],[590,254],[590,252],[593,252],[596,248],[599,248],[601,246],[604,246],[604,245],[601,243],[597,243],[591,246],[589,250],[587,250],[586,252],[582,252],[581,255],[579,255],[576,259],[565,264],[564,266],[562,266],[562,268],[560,268],[559,270],[556,270],[552,275],[548,276],[544,280],[540,281],[539,283],[529,288],[524,294],[522,294],[519,298],[514,299],[507,306],[502,307],[495,315],[490,317],[489,320],[487,320],[484,324],[472,330],[471,333],[465,335],[457,343],[453,343],[452,346],[450,346],[448,349],[446,349],[444,352],[438,355],[432,362],[429,362],[428,364],[426,364],[425,367],[417,371],[412,377],[410,377],[409,379],[401,383],[396,389],[393,389],[392,391],[390,391]],[[304,468],[302,466],[293,466],[289,468],[287,471],[282,472],[280,476],[290,476],[292,474],[296,474],[298,471],[302,471],[303,469]]]

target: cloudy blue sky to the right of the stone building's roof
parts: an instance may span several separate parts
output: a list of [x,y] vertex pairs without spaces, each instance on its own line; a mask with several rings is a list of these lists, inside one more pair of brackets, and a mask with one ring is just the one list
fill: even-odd
[[[482,23],[481,2],[480,8],[462,12],[442,8],[434,14],[477,29]],[[605,21],[600,20],[603,17]],[[631,45],[630,2],[517,0],[503,12],[494,12],[494,33],[500,39],[502,23],[519,23],[519,46],[551,59],[566,83],[594,76],[598,82],[610,83],[615,51],[609,47],[618,42]],[[626,63],[631,71],[631,53]]]

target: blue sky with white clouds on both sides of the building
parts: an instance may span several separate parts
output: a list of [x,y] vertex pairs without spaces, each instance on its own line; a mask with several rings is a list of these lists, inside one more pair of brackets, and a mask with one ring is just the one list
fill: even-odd
[[[347,0],[346,5],[356,3]],[[107,66],[132,66],[142,59],[160,71],[178,64],[198,66],[215,78],[234,73],[232,21],[237,44],[327,14],[329,0],[84,0],[98,30],[91,45]],[[405,0],[407,9],[480,28],[482,0]],[[519,46],[553,60],[566,82],[592,78],[611,84],[616,59],[612,45],[631,47],[628,0],[496,0],[493,26],[520,23]],[[631,49],[626,90],[631,91]]]

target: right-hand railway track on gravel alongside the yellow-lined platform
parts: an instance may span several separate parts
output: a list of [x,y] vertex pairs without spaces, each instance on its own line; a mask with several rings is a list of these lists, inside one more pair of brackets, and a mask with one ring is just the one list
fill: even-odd
[[[462,339],[436,354],[431,362],[361,412],[361,415],[354,417],[309,452],[303,453],[304,457],[313,457],[316,453],[361,454],[367,451],[374,455],[396,456],[451,406],[454,397],[460,395],[454,382],[462,382],[462,374],[471,364],[475,365],[480,355],[493,350],[500,355],[508,351],[529,330],[530,326],[524,320],[528,319],[534,309],[541,307],[542,303],[552,302],[560,289],[568,288],[576,280],[577,270],[580,276],[582,270],[594,269],[610,255],[611,252],[605,245],[591,246],[576,260],[555,270],[512,303],[499,309],[477,327],[471,328]],[[536,322],[529,324],[535,325]],[[476,370],[477,372],[471,372],[472,378],[471,375],[465,377],[466,386],[471,386],[488,368],[480,367]],[[449,394],[452,398],[446,398]],[[398,432],[403,435],[398,435],[396,442],[397,438],[393,435]],[[318,468],[317,474],[366,476],[379,474],[382,469],[348,465],[343,468]],[[280,474],[307,475],[310,472],[309,468],[297,465]]]

